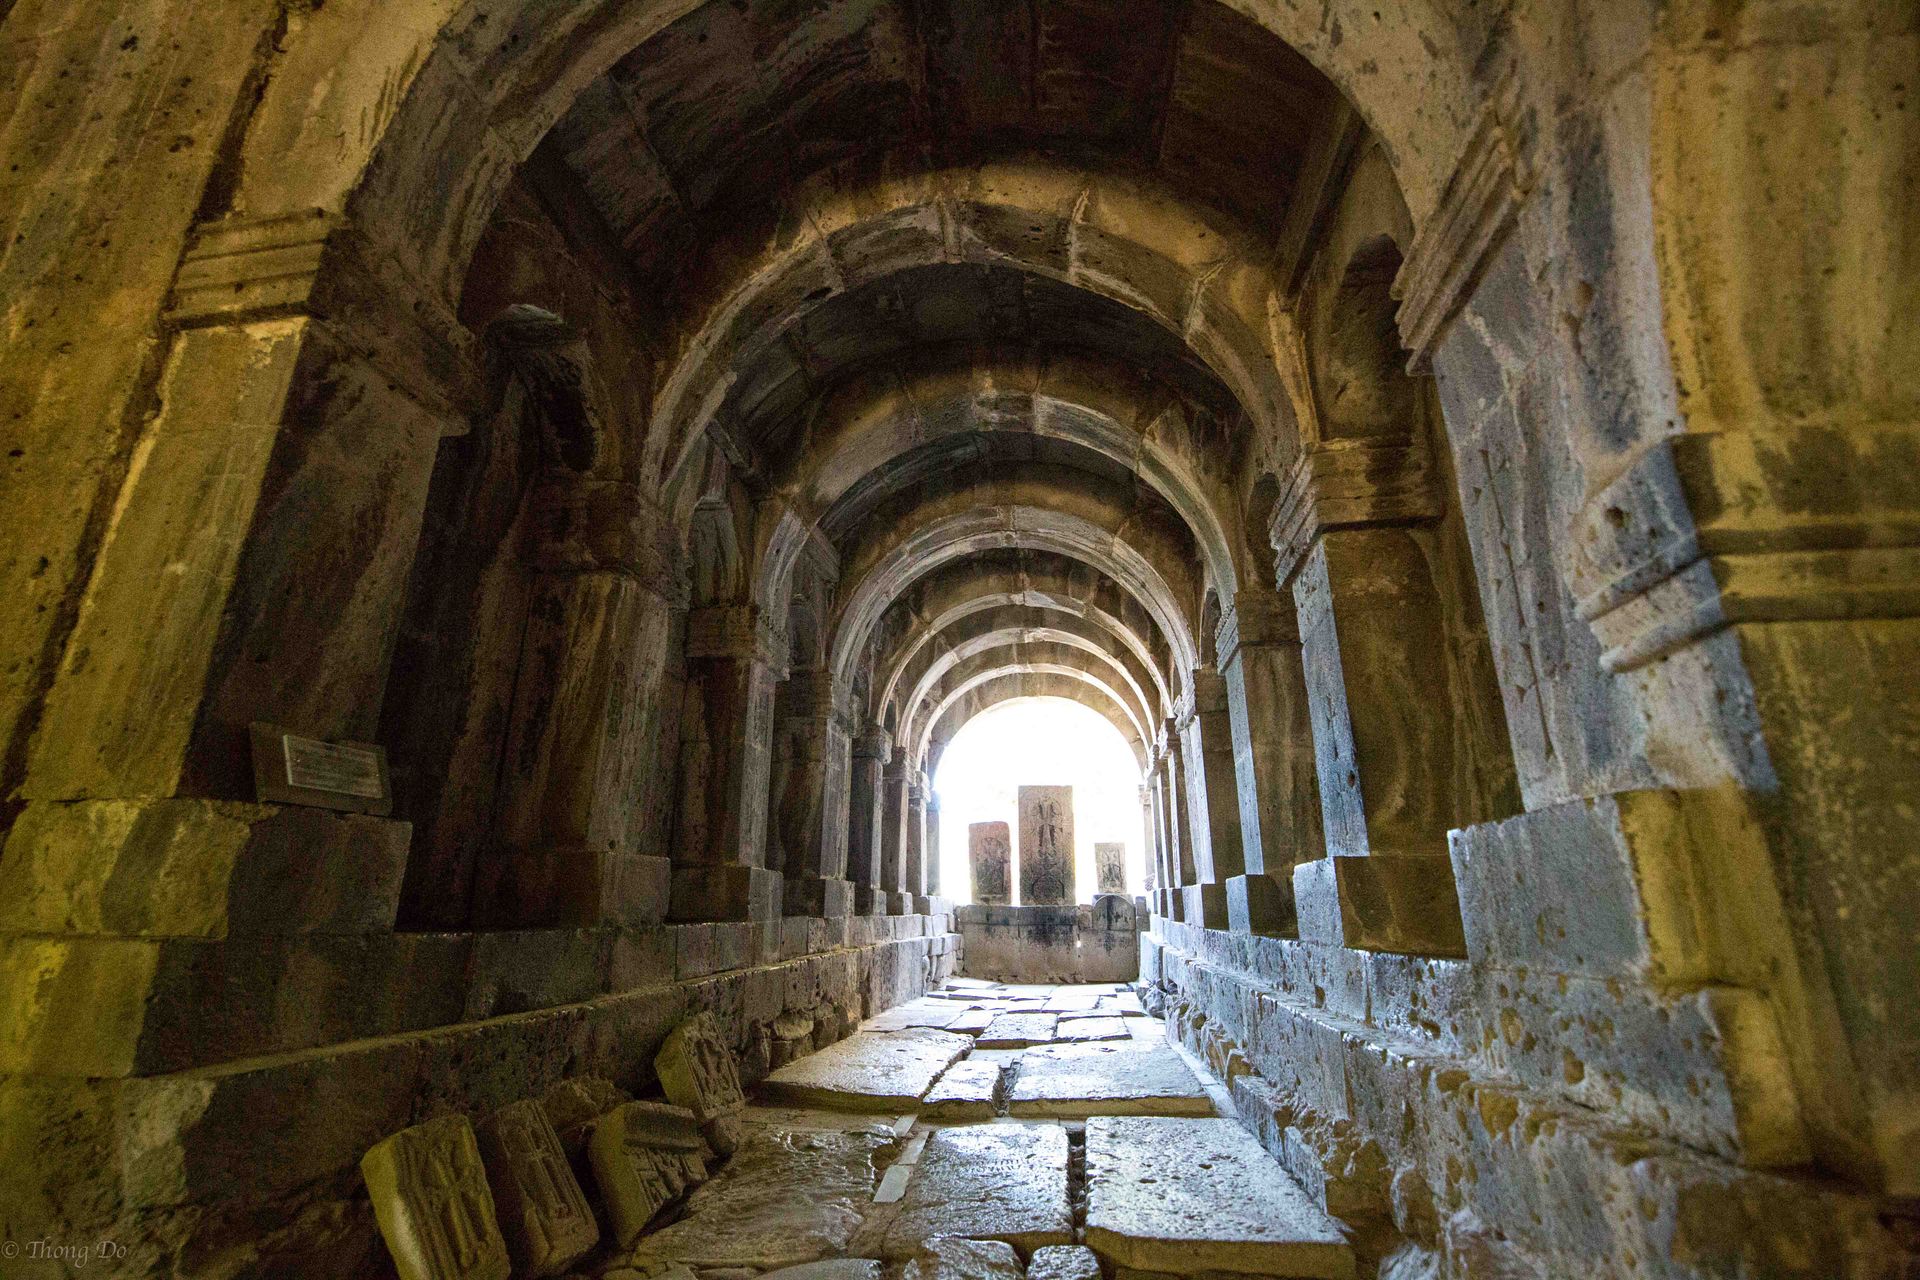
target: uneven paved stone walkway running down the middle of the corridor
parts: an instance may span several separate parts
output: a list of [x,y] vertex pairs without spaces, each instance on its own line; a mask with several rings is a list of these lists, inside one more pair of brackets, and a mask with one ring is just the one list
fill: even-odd
[[1125,986],[954,981],[766,1079],[603,1280],[1348,1280],[1342,1228]]

